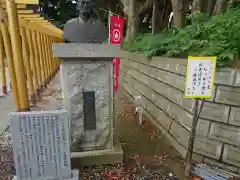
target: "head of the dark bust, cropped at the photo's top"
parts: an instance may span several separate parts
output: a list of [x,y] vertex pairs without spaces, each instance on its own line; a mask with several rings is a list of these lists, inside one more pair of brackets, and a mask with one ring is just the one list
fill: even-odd
[[78,0],[77,9],[82,18],[88,19],[93,14],[92,0]]

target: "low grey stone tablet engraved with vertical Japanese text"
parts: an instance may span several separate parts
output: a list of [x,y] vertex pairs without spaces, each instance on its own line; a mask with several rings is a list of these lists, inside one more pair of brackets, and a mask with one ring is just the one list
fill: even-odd
[[15,180],[78,180],[71,170],[65,110],[11,113]]

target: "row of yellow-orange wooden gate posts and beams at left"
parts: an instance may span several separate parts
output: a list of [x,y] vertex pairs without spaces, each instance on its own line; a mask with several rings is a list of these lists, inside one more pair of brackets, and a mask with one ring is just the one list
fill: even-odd
[[[52,44],[62,42],[62,31],[28,9],[38,0],[0,0],[0,68],[2,93],[7,93],[8,69],[16,111],[29,111],[41,90],[56,74]],[[6,56],[6,58],[5,58]]]

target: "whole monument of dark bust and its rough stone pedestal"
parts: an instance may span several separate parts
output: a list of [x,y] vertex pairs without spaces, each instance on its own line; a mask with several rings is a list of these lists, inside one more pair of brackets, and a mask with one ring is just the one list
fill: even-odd
[[63,60],[61,82],[69,113],[72,157],[81,158],[80,164],[118,163],[122,149],[113,142],[112,66],[118,50],[100,45],[107,40],[108,31],[94,13],[92,0],[78,0],[77,10],[79,17],[69,20],[63,30],[69,44],[53,47],[54,56]]

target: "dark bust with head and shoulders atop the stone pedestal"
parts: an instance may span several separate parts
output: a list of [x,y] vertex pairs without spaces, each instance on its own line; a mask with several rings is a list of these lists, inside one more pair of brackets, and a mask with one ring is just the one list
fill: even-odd
[[104,23],[96,16],[92,0],[78,0],[79,17],[69,20],[63,30],[63,37],[70,43],[102,43],[108,37]]

